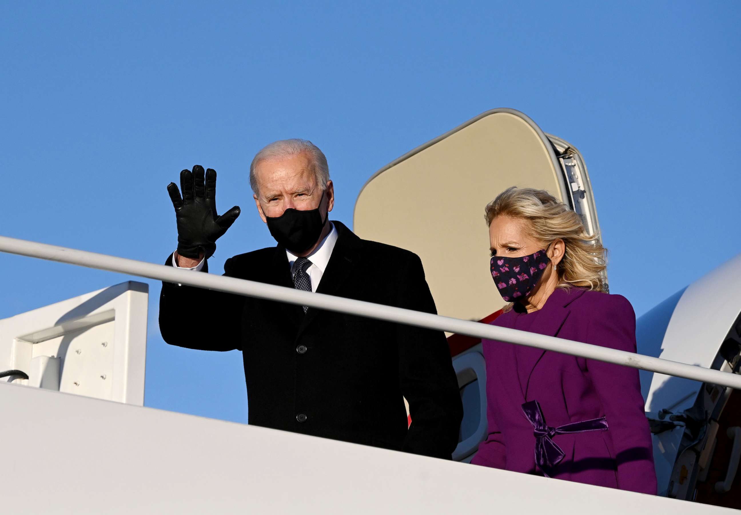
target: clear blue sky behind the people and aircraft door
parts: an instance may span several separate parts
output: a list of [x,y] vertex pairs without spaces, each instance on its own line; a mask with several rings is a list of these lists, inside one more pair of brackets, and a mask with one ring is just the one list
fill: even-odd
[[[511,107],[582,151],[611,290],[640,315],[741,252],[740,15],[736,1],[0,2],[0,234],[162,263],[165,187],[202,164],[222,211],[244,211],[220,272],[274,244],[247,180],[268,142],[319,145],[333,218],[351,223],[378,168]],[[0,318],[128,279],[12,255],[0,268]],[[247,421],[241,355],[164,344],[149,282],[146,404]]]

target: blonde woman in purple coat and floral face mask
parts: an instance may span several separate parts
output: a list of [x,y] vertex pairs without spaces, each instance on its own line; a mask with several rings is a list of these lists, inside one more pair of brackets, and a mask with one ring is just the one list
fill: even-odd
[[[492,324],[636,351],[636,318],[605,293],[605,249],[547,191],[509,188],[486,206],[491,275],[511,302]],[[476,465],[657,491],[638,370],[483,342],[488,438]]]

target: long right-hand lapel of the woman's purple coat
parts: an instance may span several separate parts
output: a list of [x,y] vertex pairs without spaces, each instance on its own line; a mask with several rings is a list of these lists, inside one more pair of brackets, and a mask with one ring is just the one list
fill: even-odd
[[[548,298],[545,306],[543,306],[539,313],[537,324],[531,328],[531,332],[547,336],[558,335],[563,323],[568,318],[569,312],[571,312],[568,309],[568,304],[571,304],[571,301],[579,298],[583,293],[583,289],[571,289],[568,292],[563,289],[556,289],[556,291],[551,293],[551,298]],[[545,354],[545,350],[518,345],[515,352],[517,358],[517,375],[519,375],[522,395],[527,400],[528,387],[534,369]]]

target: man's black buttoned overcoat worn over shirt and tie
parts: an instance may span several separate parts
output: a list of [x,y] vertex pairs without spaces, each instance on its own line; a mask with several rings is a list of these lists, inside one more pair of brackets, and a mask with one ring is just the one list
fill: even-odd
[[[417,255],[333,223],[317,292],[436,312]],[[224,269],[293,287],[282,246]],[[173,283],[162,285],[159,327],[168,344],[242,350],[250,424],[447,459],[456,447],[462,405],[442,332]]]

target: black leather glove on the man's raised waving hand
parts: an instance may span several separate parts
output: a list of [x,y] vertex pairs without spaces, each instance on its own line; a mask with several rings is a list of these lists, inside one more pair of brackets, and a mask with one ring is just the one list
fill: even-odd
[[216,214],[216,170],[211,168],[206,171],[205,183],[201,165],[193,166],[193,173],[181,171],[180,187],[182,198],[175,183],[167,185],[178,223],[178,254],[198,259],[203,251],[206,257],[211,257],[216,251],[216,239],[227,232],[239,216],[239,206],[222,216]]

